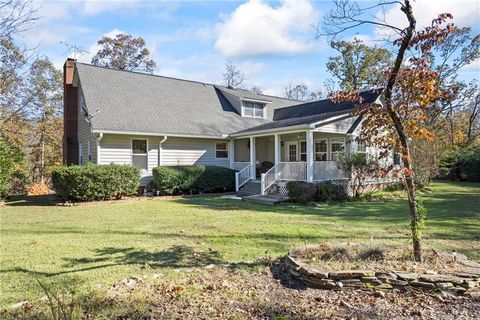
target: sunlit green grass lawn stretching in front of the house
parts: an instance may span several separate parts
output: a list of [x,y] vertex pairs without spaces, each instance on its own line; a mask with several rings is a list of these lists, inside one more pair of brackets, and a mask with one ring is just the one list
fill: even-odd
[[[480,259],[480,184],[436,182],[425,195],[425,247]],[[189,267],[249,262],[322,241],[372,237],[409,243],[405,200],[276,207],[220,197],[48,206],[9,202],[1,211],[0,305],[50,285],[85,291],[131,275],[181,277]]]

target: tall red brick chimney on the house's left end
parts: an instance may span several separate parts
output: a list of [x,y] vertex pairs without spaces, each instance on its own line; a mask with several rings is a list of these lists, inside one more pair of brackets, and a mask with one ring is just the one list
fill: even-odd
[[75,62],[63,65],[63,163],[78,164],[78,86],[73,86]]

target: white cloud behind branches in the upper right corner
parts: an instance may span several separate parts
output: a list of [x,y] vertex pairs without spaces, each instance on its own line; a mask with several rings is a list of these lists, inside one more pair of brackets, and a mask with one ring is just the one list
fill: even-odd
[[[422,29],[431,25],[441,13],[451,13],[453,22],[457,26],[480,26],[480,2],[478,0],[417,0],[412,3],[413,14],[417,20],[417,29]],[[387,10],[385,13],[379,12],[377,18],[394,26],[404,28],[408,26],[405,14],[400,10],[400,4],[397,4]],[[381,36],[385,32],[377,28],[376,33]]]

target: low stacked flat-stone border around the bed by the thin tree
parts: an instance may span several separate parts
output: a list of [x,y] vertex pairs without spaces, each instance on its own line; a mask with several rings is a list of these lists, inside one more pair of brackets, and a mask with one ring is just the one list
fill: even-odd
[[417,288],[432,291],[449,291],[464,294],[467,291],[480,290],[480,265],[462,260],[462,272],[451,275],[427,271],[422,274],[392,270],[378,272],[374,270],[326,271],[296,261],[290,255],[285,257],[285,268],[294,278],[312,288],[345,290],[390,290]]

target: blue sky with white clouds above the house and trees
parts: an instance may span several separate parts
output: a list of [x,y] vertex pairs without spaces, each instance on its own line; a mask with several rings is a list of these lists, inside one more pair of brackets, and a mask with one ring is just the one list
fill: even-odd
[[[360,5],[376,2],[360,1]],[[39,19],[17,41],[35,47],[61,67],[75,45],[86,53],[76,54],[90,63],[102,36],[128,33],[142,37],[157,67],[155,74],[221,83],[225,63],[232,61],[245,74],[244,85],[264,93],[283,95],[289,84],[305,83],[311,90],[324,90],[331,77],[328,57],[335,54],[327,38],[317,38],[332,1],[35,1]],[[417,0],[413,3],[418,26],[426,26],[441,12],[450,12],[458,26],[480,33],[480,1]],[[388,22],[405,18],[398,6],[387,8]],[[382,45],[381,31],[363,26],[341,38],[359,37]],[[462,70],[461,78],[480,79],[480,61]]]

